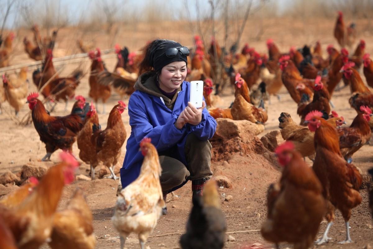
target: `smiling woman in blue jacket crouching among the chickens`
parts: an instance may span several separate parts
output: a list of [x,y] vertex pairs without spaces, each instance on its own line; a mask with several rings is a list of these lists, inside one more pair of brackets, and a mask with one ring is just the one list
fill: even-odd
[[151,138],[159,153],[164,198],[188,180],[193,196],[201,195],[212,175],[208,139],[215,133],[216,121],[206,103],[198,109],[189,103],[190,83],[184,81],[188,55],[189,49],[176,41],[154,40],[146,48],[136,91],[128,102],[132,131],[120,169],[123,188],[140,173],[144,157],[139,143],[144,137]]

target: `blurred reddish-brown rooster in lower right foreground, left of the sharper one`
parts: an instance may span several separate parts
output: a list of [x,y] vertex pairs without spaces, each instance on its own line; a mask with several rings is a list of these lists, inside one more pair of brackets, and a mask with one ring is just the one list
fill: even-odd
[[296,249],[308,249],[325,214],[322,185],[292,142],[281,144],[275,152],[283,171],[279,183],[268,189],[268,215],[261,235],[276,243],[276,248],[280,242],[289,242]]

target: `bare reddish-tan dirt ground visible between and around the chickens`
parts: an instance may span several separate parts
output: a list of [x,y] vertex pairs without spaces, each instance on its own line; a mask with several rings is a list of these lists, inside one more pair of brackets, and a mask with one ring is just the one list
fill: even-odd
[[[251,24],[254,24],[254,22],[251,22]],[[294,22],[294,20],[291,19],[277,21],[275,19],[268,20],[264,22],[266,32],[264,33],[262,40],[254,41],[252,33],[254,33],[257,28],[255,25],[250,25],[249,23],[242,37],[242,41],[250,41],[250,47],[253,46],[259,52],[265,53],[265,40],[267,38],[273,38],[279,45],[280,49],[284,52],[288,50],[290,46],[294,45],[301,47],[305,43],[314,43],[314,41],[320,40],[322,42],[323,51],[325,52],[326,46],[329,43],[335,44],[335,46],[338,47],[332,37],[333,24],[334,20],[321,20],[316,23]],[[358,21],[357,26],[360,28],[359,37],[363,38],[367,43],[366,52],[373,54],[373,46],[371,45],[373,44],[372,28],[370,28],[370,30],[363,30],[363,27],[370,27],[366,21]],[[150,34],[146,34],[146,28],[139,25],[137,27],[137,33],[134,34],[133,37],[128,35],[131,34],[133,31],[132,29],[127,30],[123,28],[123,33],[119,37],[116,37],[116,42],[126,44],[126,41],[128,40],[128,46],[132,50],[140,48],[147,40],[156,36],[175,39],[181,41],[183,44],[191,44],[191,35],[186,38],[184,33],[185,35],[189,33],[186,31],[184,32],[184,30],[186,30],[186,28],[181,29],[180,31],[182,35],[175,35],[173,32],[167,31],[163,36],[161,36],[160,33],[157,33],[157,30],[152,30]],[[21,31],[19,34],[27,34],[31,38],[31,32],[29,31]],[[69,34],[75,34],[74,29],[62,29],[59,33],[61,40],[59,41],[57,48],[65,53],[71,53],[71,44],[75,43],[72,42],[72,40],[75,39],[75,35],[71,35],[69,38]],[[101,37],[101,35],[101,33],[95,35],[98,44],[97,46],[101,46],[101,49],[109,48],[109,38]],[[128,36],[126,37],[126,35]],[[22,41],[23,36],[19,37],[19,39]],[[12,59],[12,64],[16,65],[31,61],[32,60],[28,59],[27,55],[23,52],[22,43],[19,42],[18,47],[16,48],[16,53]],[[109,70],[114,68],[116,59],[104,61]],[[69,72],[72,72],[77,66],[78,64],[65,65],[65,68],[60,75],[68,75]],[[85,69],[88,70],[90,66],[88,59],[84,66]],[[34,91],[35,85],[32,84],[31,74],[32,70],[28,75],[30,80],[30,91]],[[89,74],[82,78],[81,84],[76,90],[76,94],[81,94],[83,96],[88,95],[88,76]],[[221,97],[223,99],[224,107],[228,107],[234,99],[230,89],[227,89]],[[284,87],[280,91],[280,97],[280,100],[276,97],[272,97],[272,104],[269,105],[268,110],[269,119],[266,123],[266,129],[259,137],[269,131],[278,130],[278,117],[281,112],[288,112],[296,122],[300,121],[296,113],[296,104],[290,98]],[[349,97],[350,89],[345,88],[341,91],[335,92],[332,101],[335,105],[335,111],[337,111],[339,115],[344,116],[348,124],[351,124],[356,113],[348,104]],[[118,100],[119,96],[113,93],[107,103],[107,113],[109,113],[110,109]],[[90,102],[90,98],[87,98],[87,101]],[[126,99],[125,102],[128,103],[128,99]],[[72,104],[72,102],[69,103],[68,109],[71,109]],[[63,103],[57,105],[57,110],[53,115],[66,115],[67,113],[63,112],[63,108]],[[52,162],[40,162],[40,159],[45,155],[46,151],[44,144],[39,140],[39,136],[35,131],[34,126],[32,124],[25,127],[16,125],[15,122],[10,119],[8,114],[10,113],[10,108],[7,103],[4,104],[4,109],[6,112],[3,112],[3,114],[0,115],[0,174],[7,170],[11,170],[15,173],[19,172],[22,165],[28,162],[37,165],[45,164],[47,166],[58,162],[58,153],[54,153],[51,156]],[[99,104],[97,109],[102,110],[102,105]],[[19,113],[20,117],[26,115],[28,111],[28,106],[23,106]],[[105,128],[108,114],[99,114],[98,116],[100,124]],[[126,131],[129,136],[131,127],[129,127],[128,124],[129,117],[126,111],[122,114],[122,120],[125,123]],[[124,145],[122,147],[120,162],[123,162],[125,151],[126,149]],[[363,172],[366,172],[367,169],[372,166],[372,151],[372,147],[368,145],[363,146],[353,156],[354,164],[360,167]],[[75,155],[78,155],[79,153],[76,143],[73,145],[73,153]],[[311,165],[311,161],[307,162]],[[223,164],[223,162],[217,162],[213,159],[212,168],[214,172],[226,175],[233,183],[232,189],[218,190],[221,196],[222,210],[226,214],[226,221],[228,224],[227,232],[235,237],[235,241],[226,242],[225,248],[241,248],[241,246],[252,245],[253,243],[261,243],[266,248],[273,248],[273,245],[263,240],[258,229],[260,229],[260,225],[266,217],[267,187],[270,183],[279,178],[279,168],[276,165],[267,165],[260,161],[253,160],[251,155],[239,154],[232,155],[231,159],[228,160],[228,164]],[[88,176],[88,171],[89,165],[82,163],[77,174],[85,174]],[[115,194],[117,181],[112,179],[75,181],[65,188],[59,208],[63,208],[66,205],[66,202],[69,200],[76,187],[80,187],[84,190],[88,204],[93,213],[94,232],[97,236],[96,248],[119,248],[119,237],[110,221],[110,218],[113,215],[113,206],[116,202]],[[372,220],[368,208],[367,190],[360,190],[360,193],[363,197],[363,202],[357,208],[352,210],[352,217],[350,220],[351,238],[354,240],[354,243],[349,245],[339,245],[337,243],[338,241],[345,239],[344,221],[341,214],[337,212],[335,224],[332,226],[329,233],[329,236],[332,237],[333,240],[326,245],[314,246],[314,248],[364,248],[364,246],[369,243],[373,246]],[[178,243],[179,236],[185,231],[186,220],[188,219],[189,211],[191,209],[191,184],[186,184],[184,187],[177,190],[175,194],[175,199],[167,205],[169,213],[160,217],[154,233],[147,241],[146,245],[150,246],[150,248],[180,248]],[[233,200],[230,202],[224,202],[223,194],[231,194]],[[318,236],[321,236],[325,227],[326,221],[323,221]],[[283,244],[281,245],[281,248],[286,248],[288,246],[289,245]],[[48,248],[48,246],[45,245],[42,248]],[[129,239],[127,239],[126,248],[139,248],[138,239],[134,234],[131,234]]]

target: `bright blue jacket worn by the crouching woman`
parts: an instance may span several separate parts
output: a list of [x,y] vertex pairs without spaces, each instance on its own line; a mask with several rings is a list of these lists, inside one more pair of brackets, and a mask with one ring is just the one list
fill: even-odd
[[175,159],[187,165],[184,154],[186,136],[194,133],[201,140],[208,140],[214,135],[216,121],[206,108],[202,112],[200,124],[186,124],[181,130],[175,127],[179,114],[188,106],[189,87],[189,82],[182,83],[173,110],[166,107],[161,97],[139,90],[132,93],[128,102],[131,135],[127,141],[123,167],[120,169],[123,188],[132,183],[140,174],[144,159],[139,151],[142,138],[150,137],[151,143],[158,152],[176,145],[178,153],[175,155]]

